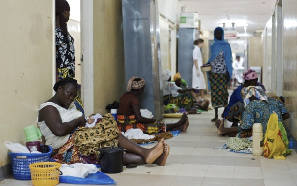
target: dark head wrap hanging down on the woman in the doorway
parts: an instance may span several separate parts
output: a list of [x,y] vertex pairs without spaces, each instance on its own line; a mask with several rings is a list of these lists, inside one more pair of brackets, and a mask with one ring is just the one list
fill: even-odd
[[66,35],[68,31],[63,11],[70,10],[70,5],[66,0],[55,0],[55,6],[55,14],[59,15],[60,28],[63,35]]

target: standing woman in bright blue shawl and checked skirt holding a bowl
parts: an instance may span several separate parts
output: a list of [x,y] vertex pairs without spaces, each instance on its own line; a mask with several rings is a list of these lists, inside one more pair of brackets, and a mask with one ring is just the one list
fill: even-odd
[[212,65],[212,70],[207,73],[208,87],[211,89],[211,104],[215,110],[215,117],[211,122],[218,119],[218,108],[228,105],[227,85],[232,76],[232,53],[228,42],[224,40],[224,29],[216,27],[214,30],[214,42],[210,45],[210,58],[206,64]]

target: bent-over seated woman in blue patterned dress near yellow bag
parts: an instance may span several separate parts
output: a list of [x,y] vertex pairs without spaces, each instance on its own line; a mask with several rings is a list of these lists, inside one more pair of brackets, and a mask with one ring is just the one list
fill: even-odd
[[265,135],[267,123],[270,115],[278,115],[279,122],[290,118],[284,104],[275,98],[267,98],[264,90],[260,86],[248,86],[242,90],[245,112],[238,127],[224,127],[224,121],[219,121],[217,134],[226,134],[234,137],[239,132],[239,137],[249,137],[252,135],[252,125],[262,124],[263,134]]

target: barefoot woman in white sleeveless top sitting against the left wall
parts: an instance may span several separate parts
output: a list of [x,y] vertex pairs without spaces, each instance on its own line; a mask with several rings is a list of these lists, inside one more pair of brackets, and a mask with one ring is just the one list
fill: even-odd
[[56,82],[55,95],[38,110],[38,125],[45,136],[46,145],[52,147],[51,158],[60,163],[99,163],[99,148],[118,146],[125,148],[126,164],[165,165],[169,146],[162,139],[151,148],[143,148],[123,136],[112,115],[106,114],[94,127],[84,127],[87,118],[76,110],[73,100],[78,84],[66,77]]

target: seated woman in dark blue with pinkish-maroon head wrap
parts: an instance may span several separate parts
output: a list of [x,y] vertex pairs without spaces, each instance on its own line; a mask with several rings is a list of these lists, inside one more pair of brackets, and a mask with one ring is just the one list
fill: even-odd
[[[230,96],[229,104],[225,110],[224,119],[229,122],[233,122],[232,126],[238,126],[238,122],[242,119],[244,108],[244,101],[241,96],[241,91],[244,87],[256,86],[258,81],[258,76],[254,70],[250,68],[244,72],[243,79],[245,80],[243,85],[238,86]],[[219,124],[216,123],[218,126]]]

